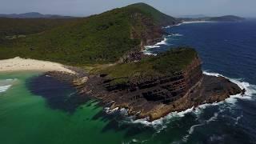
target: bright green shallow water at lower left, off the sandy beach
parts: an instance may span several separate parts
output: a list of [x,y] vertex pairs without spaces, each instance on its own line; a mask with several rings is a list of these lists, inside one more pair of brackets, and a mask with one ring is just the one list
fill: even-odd
[[123,133],[101,130],[107,122],[91,120],[102,107],[80,106],[74,114],[52,110],[44,98],[30,93],[28,78],[38,73],[6,73],[0,79],[14,79],[13,86],[0,93],[0,139],[12,143],[120,143]]

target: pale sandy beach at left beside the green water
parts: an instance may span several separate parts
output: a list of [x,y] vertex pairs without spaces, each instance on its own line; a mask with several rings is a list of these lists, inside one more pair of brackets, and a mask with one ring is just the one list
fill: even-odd
[[38,71],[63,71],[74,74],[74,71],[65,68],[62,64],[56,62],[39,61],[35,59],[10,58],[0,60],[0,72],[2,71],[22,71],[22,70],[38,70]]

